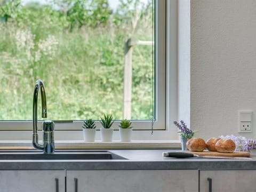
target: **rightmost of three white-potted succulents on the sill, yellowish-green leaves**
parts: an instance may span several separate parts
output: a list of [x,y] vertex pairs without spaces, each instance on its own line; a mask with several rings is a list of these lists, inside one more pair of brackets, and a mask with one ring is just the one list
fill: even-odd
[[129,121],[127,119],[123,119],[120,122],[120,125],[118,125],[121,141],[131,141],[131,136],[132,136],[132,126],[131,126],[131,124],[132,124],[131,121]]

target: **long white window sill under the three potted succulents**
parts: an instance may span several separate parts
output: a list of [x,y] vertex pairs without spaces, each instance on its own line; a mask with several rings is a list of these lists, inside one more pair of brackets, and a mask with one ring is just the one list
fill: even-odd
[[[84,142],[82,140],[55,142],[56,149],[180,149],[179,140],[133,140],[131,142]],[[0,149],[34,149],[29,140],[0,141]]]

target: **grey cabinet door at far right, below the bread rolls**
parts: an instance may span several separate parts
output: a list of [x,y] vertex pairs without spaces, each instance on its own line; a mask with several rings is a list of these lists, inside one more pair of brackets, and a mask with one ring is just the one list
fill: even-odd
[[[256,191],[256,171],[253,170],[201,170],[200,192]],[[210,186],[211,182],[211,186]]]

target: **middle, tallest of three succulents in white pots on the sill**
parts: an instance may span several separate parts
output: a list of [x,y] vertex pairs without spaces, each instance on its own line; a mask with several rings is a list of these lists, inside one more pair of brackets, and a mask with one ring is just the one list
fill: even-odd
[[103,128],[100,128],[100,133],[101,133],[101,140],[102,141],[112,141],[113,137],[113,128],[111,126],[113,125],[114,121],[112,115],[105,115],[101,118],[101,125]]

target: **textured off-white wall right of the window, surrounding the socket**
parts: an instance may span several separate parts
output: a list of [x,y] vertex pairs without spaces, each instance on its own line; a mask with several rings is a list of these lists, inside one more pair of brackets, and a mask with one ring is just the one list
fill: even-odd
[[207,139],[238,134],[238,110],[253,111],[256,138],[256,1],[191,0],[191,129]]

